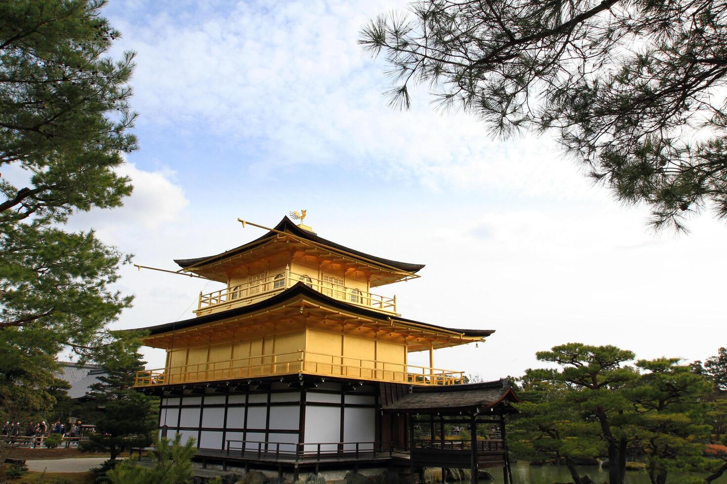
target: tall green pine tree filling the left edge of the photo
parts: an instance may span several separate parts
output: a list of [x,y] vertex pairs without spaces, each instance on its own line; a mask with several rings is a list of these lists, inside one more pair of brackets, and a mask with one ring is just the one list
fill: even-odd
[[[53,357],[83,358],[132,301],[110,289],[128,257],[94,231],[63,229],[79,210],[121,205],[116,168],[137,149],[128,129],[133,54],[106,57],[119,32],[101,0],[0,2],[0,366],[4,406],[47,411]],[[9,169],[12,166],[12,170]],[[4,195],[4,200],[2,198]],[[17,375],[36,374],[35,380]],[[20,395],[23,385],[34,396]]]

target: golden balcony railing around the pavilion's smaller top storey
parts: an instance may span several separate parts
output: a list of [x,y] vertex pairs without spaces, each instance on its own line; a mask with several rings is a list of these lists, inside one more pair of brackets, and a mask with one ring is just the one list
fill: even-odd
[[396,296],[387,298],[356,287],[333,284],[332,282],[315,279],[307,274],[295,274],[287,270],[280,274],[274,274],[238,286],[225,287],[225,289],[210,292],[209,294],[200,294],[199,304],[195,312],[200,313],[212,308],[229,308],[257,303],[257,301],[270,298],[270,296],[282,292],[298,282],[302,282],[313,290],[346,303],[364,306],[376,311],[384,311],[385,313],[396,313]]

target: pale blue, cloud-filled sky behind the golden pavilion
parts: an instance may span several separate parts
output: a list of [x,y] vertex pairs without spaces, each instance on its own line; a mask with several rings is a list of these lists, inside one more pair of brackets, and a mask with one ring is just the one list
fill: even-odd
[[[534,352],[569,341],[638,356],[695,359],[725,344],[724,223],[655,235],[645,208],[593,186],[547,137],[492,139],[476,120],[387,107],[385,65],[358,30],[398,1],[111,0],[105,15],[137,52],[132,105],[141,149],[124,168],[124,208],[81,214],[137,263],[209,255],[308,210],[318,234],[427,263],[381,288],[403,316],[497,329],[435,364],[486,378],[521,374]],[[192,316],[214,283],[124,268],[137,295],[116,327]],[[149,351],[151,366],[161,366]]]

